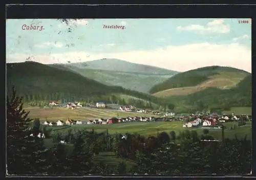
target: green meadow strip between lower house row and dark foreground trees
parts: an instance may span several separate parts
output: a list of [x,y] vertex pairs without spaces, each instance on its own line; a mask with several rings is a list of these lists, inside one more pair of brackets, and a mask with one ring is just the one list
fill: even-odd
[[[174,130],[176,134],[179,132],[188,130],[196,130],[199,135],[203,133],[201,128],[183,128],[183,122],[181,121],[173,121],[173,122],[132,122],[132,123],[118,123],[118,124],[108,124],[108,125],[72,125],[64,127],[51,127],[54,129],[54,132],[67,132],[69,129],[72,130],[81,130],[81,129],[94,129],[96,132],[103,132],[108,129],[110,134],[115,133],[139,133],[142,136],[156,136],[157,133],[167,132]],[[224,123],[227,127],[225,130],[226,138],[234,138],[234,134],[237,134],[239,138],[243,138],[247,135],[248,139],[251,139],[251,123],[247,122],[247,124],[243,127],[238,127],[238,122],[228,122]],[[230,129],[230,127],[236,125],[236,129]],[[209,129],[209,135],[215,137],[218,140],[221,140],[221,130],[220,129]]]

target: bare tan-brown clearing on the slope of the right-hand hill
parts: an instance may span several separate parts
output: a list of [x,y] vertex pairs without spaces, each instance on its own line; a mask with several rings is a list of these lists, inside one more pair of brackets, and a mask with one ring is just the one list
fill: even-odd
[[231,88],[237,85],[242,79],[247,76],[245,73],[235,72],[222,72],[218,75],[210,76],[208,80],[189,87],[179,87],[165,89],[164,91],[153,94],[156,97],[169,97],[169,96],[186,96],[204,90],[207,87],[217,87],[221,89]]

